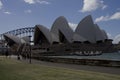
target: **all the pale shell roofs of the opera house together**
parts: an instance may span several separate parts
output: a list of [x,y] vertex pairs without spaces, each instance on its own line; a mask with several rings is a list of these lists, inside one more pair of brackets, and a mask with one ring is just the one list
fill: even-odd
[[[108,36],[104,30],[101,30],[97,24],[93,23],[91,15],[86,16],[80,23],[78,24],[75,32],[69,27],[68,21],[65,17],[60,16],[58,17],[53,25],[51,30],[47,29],[43,25],[36,25],[35,26],[35,33],[34,33],[34,42],[38,41],[39,33],[45,36],[47,41],[52,44],[53,42],[60,42],[60,32],[64,35],[65,39],[72,43],[74,41],[89,41],[91,43],[96,43],[96,41],[108,39]],[[4,34],[5,37],[12,40],[16,44],[27,43],[29,42],[29,37],[23,37],[20,39],[17,36]]]

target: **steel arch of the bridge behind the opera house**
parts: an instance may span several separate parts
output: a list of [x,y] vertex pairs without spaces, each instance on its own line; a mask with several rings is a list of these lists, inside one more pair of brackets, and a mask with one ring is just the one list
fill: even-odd
[[[25,33],[26,33],[26,35],[22,35],[22,34],[25,34]],[[15,35],[15,36],[22,35],[22,37],[25,37],[25,36],[33,36],[32,33],[34,33],[34,27],[26,27],[26,28],[20,28],[20,29],[5,32],[3,34],[0,34],[0,37],[1,37],[1,40],[2,40],[4,34],[12,34],[12,35]]]

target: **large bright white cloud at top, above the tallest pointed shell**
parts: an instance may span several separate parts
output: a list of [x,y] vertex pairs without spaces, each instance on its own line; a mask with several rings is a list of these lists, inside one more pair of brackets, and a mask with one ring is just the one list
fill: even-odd
[[107,5],[105,5],[104,1],[102,0],[84,0],[83,8],[80,10],[80,12],[90,12],[98,8],[105,9],[106,7]]

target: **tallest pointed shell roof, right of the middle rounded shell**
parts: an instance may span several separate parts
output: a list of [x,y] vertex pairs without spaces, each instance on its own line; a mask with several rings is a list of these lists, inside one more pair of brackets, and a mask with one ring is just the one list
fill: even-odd
[[75,32],[91,43],[95,43],[95,26],[91,15],[85,17],[77,26]]

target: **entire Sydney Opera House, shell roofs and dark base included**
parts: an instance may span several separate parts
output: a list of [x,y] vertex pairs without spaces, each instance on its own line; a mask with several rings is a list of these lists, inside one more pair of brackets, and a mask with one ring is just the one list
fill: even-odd
[[[4,34],[10,47],[29,43],[29,37],[20,39],[17,36]],[[94,54],[115,51],[112,40],[106,32],[94,24],[91,15],[80,21],[75,30],[72,30],[65,17],[58,17],[51,29],[43,25],[34,27],[34,45],[32,53],[41,55],[72,55]]]

